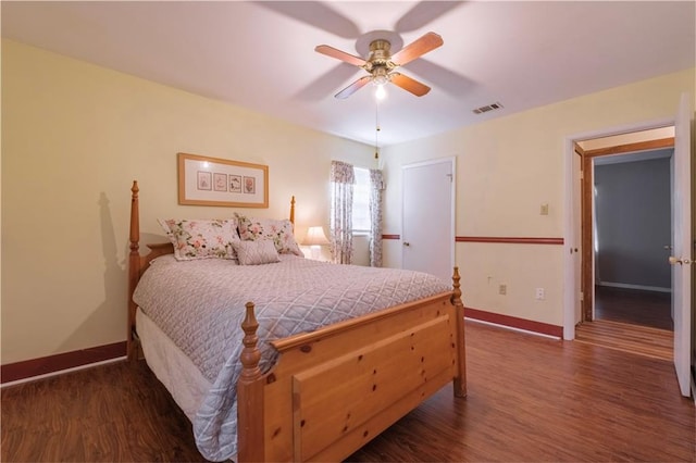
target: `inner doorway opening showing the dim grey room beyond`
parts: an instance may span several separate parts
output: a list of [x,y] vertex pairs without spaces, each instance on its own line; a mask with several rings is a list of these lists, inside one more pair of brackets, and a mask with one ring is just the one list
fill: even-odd
[[648,148],[593,158],[593,320],[672,330],[668,259],[674,149]]

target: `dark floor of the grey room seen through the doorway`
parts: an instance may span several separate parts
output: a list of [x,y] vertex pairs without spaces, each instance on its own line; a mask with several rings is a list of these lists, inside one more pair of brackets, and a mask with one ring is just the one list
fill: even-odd
[[595,318],[673,330],[669,292],[595,286]]

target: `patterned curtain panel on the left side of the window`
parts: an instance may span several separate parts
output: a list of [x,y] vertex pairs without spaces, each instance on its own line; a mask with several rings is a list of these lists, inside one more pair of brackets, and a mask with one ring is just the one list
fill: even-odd
[[337,264],[352,261],[352,189],[356,176],[352,165],[331,162],[331,256]]

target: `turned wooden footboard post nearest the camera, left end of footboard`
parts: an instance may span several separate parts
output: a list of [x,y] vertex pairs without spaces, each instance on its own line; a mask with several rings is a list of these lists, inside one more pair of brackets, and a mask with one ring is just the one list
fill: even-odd
[[257,348],[257,322],[253,303],[247,302],[247,313],[241,322],[244,348],[241,375],[237,381],[237,461],[262,462],[265,460],[263,425],[263,384],[259,361],[261,352]]

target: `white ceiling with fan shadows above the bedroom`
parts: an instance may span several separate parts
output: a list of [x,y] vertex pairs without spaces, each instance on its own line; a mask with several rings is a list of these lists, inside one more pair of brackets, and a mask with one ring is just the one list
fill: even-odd
[[[427,32],[445,45],[390,85],[381,146],[430,136],[695,65],[694,1],[7,1],[2,37],[375,142],[372,86],[333,97],[364,71],[314,52],[364,57],[374,30],[393,52]],[[474,115],[477,107],[502,110]]]

